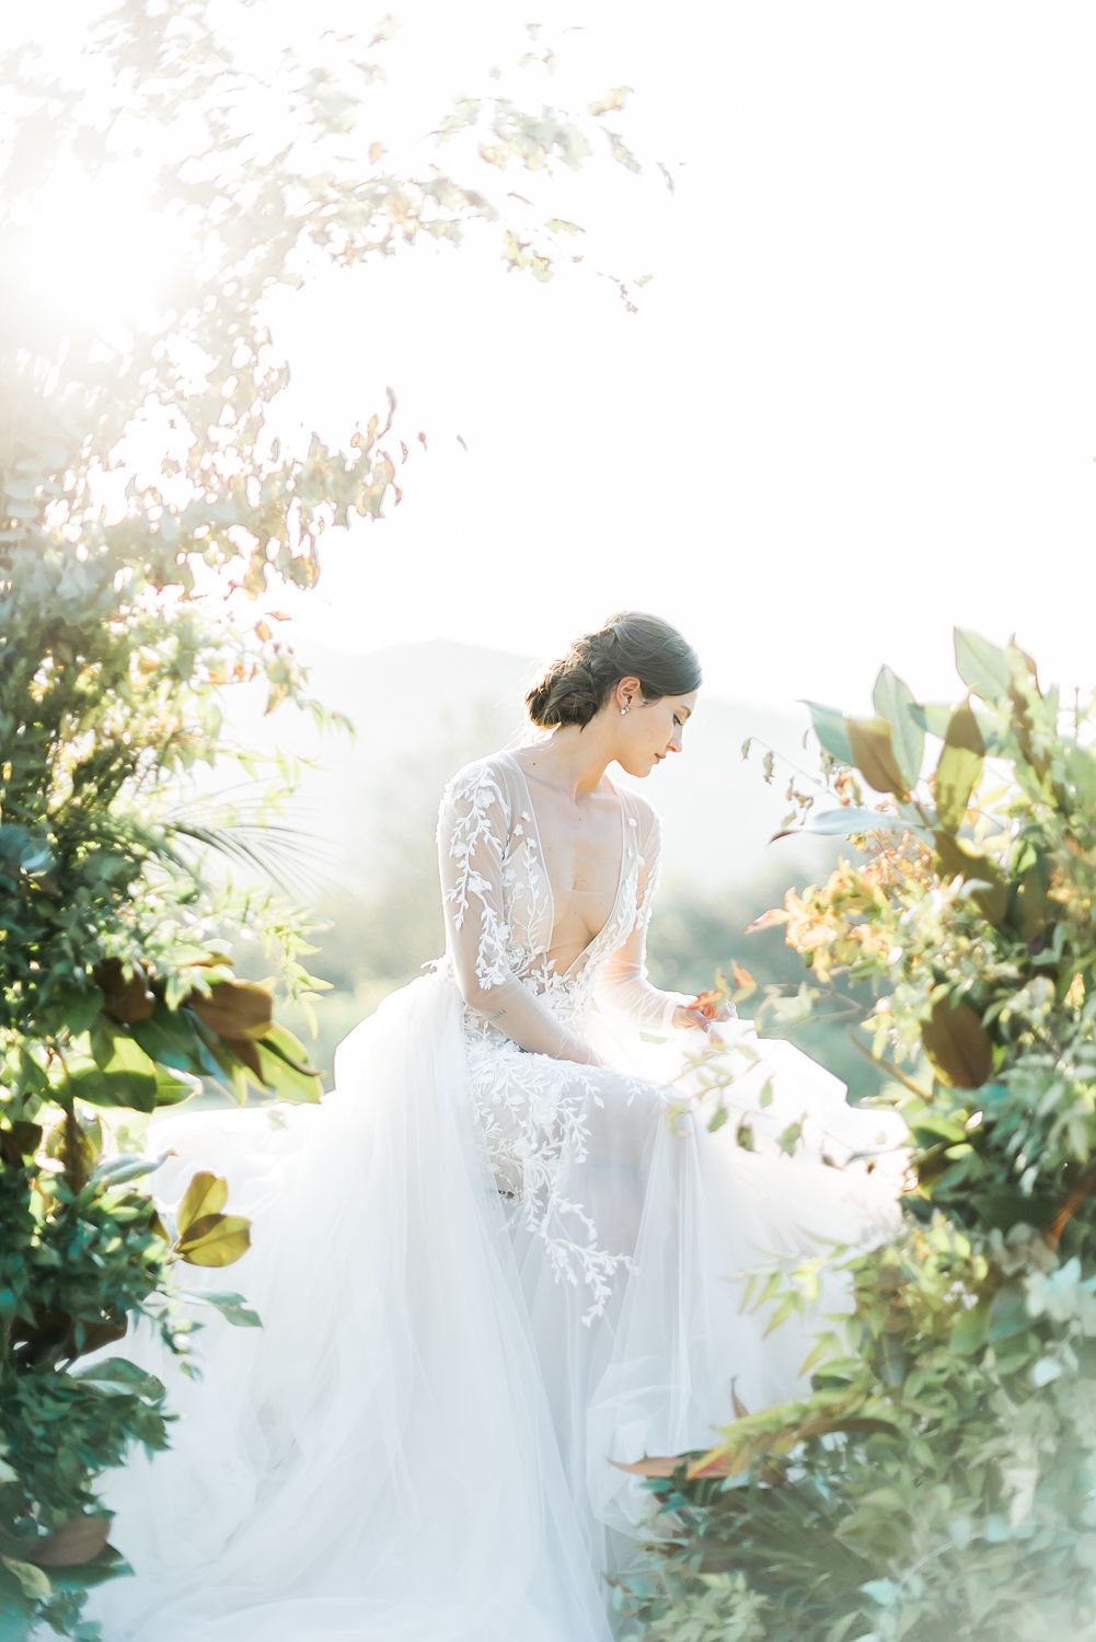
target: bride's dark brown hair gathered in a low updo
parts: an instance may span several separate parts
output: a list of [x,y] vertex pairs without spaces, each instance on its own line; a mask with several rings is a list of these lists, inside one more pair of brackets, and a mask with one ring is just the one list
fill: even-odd
[[552,662],[526,696],[534,724],[583,729],[621,678],[638,678],[644,701],[687,696],[700,685],[697,652],[669,622],[641,611],[611,616],[598,632],[575,639],[560,662]]

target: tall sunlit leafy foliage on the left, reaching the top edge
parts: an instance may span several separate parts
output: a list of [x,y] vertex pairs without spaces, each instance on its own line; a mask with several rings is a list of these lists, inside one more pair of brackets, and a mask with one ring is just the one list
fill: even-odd
[[[36,1621],[94,1635],[82,1593],[118,1571],[95,1483],[169,1437],[164,1391],[122,1342],[145,1317],[184,1351],[181,1271],[248,1246],[207,1172],[166,1223],[156,1158],[128,1151],[135,1115],[207,1082],[319,1097],[269,988],[230,962],[250,943],[291,998],[322,985],[307,924],[269,888],[299,867],[278,823],[292,770],[230,742],[223,691],[337,722],[307,693],[279,589],[315,585],[324,530],[399,502],[409,450],[391,391],[342,448],[288,448],[274,299],[315,268],[458,245],[475,222],[506,271],[544,279],[578,232],[519,230],[437,164],[393,169],[365,135],[389,18],[266,54],[265,82],[246,0],[235,16],[210,0],[84,11],[84,53],[0,61],[0,1642]],[[621,107],[613,94],[582,123]],[[437,148],[460,133],[493,179],[592,153],[570,117],[501,90],[458,102]],[[511,177],[500,194],[523,197]],[[127,210],[140,240],[95,238]],[[164,248],[138,289],[131,264]],[[196,780],[233,759],[256,795],[235,810]],[[235,1294],[202,1299],[258,1323]]]

